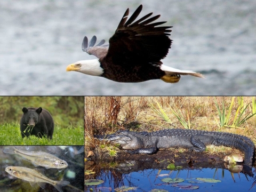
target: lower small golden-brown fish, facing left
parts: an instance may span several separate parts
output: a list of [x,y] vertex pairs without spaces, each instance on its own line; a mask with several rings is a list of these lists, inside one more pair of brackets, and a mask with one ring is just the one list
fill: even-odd
[[45,183],[50,183],[56,189],[58,189],[58,191],[63,192],[61,187],[69,185],[70,183],[68,181],[54,181],[50,178],[47,178],[43,173],[43,169],[30,169],[20,166],[7,166],[5,168],[5,171],[13,177],[29,181],[32,187],[35,187],[37,183],[42,189],[44,189]]

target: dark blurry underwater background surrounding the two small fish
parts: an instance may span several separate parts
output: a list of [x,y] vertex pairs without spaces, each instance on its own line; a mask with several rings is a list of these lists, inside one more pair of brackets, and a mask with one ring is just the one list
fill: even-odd
[[66,161],[68,166],[65,169],[45,169],[45,167],[35,167],[31,162],[26,161],[20,155],[4,153],[4,149],[13,146],[0,146],[0,188],[1,192],[9,191],[31,191],[46,192],[58,191],[53,185],[46,183],[42,189],[38,185],[31,187],[28,181],[13,177],[5,171],[7,166],[22,166],[30,169],[43,169],[44,175],[52,180],[69,181],[70,184],[63,186],[63,191],[81,192],[84,191],[84,153],[78,153],[82,146],[15,146],[15,148],[26,151],[44,151]]

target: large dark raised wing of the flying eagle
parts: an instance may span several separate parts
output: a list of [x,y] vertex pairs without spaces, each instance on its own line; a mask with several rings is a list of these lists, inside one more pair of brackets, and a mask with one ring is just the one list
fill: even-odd
[[[149,13],[141,19],[133,22],[142,10],[142,5],[131,15],[129,20],[129,9],[123,15],[115,34],[109,39],[109,49],[106,60],[111,58],[118,65],[132,65],[134,61],[141,61],[141,65],[148,63],[159,63],[165,58],[170,47],[169,38],[171,27],[157,27],[164,22],[155,22],[160,15],[149,18]],[[149,18],[149,19],[148,19]],[[127,21],[126,21],[127,20]],[[115,62],[116,61],[116,62]],[[117,62],[118,61],[118,62]]]

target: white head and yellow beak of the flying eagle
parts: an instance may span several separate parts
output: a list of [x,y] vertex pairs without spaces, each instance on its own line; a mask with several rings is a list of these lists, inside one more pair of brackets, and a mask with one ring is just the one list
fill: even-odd
[[86,75],[101,76],[104,72],[100,67],[99,59],[82,60],[70,64],[66,71],[77,71]]

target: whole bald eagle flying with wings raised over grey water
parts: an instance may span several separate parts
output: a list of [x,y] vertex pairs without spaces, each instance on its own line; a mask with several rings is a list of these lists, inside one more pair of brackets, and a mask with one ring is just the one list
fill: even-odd
[[[180,75],[203,77],[190,70],[179,70],[162,65],[171,48],[171,27],[156,27],[164,22],[154,22],[160,15],[149,18],[153,13],[137,19],[142,10],[140,5],[127,20],[129,9],[124,13],[115,34],[109,39],[95,45],[97,38],[84,37],[82,50],[98,59],[77,61],[67,66],[67,71],[101,76],[116,82],[143,82],[150,79],[162,79],[167,83],[177,83]],[[149,19],[148,19],[149,18]],[[127,20],[127,21],[126,21]]]

